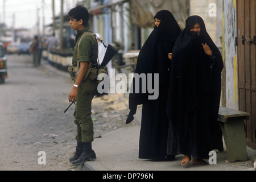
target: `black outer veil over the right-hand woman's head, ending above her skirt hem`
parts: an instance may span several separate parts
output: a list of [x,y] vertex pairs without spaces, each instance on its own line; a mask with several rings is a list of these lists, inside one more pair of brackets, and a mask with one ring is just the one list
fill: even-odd
[[[200,35],[190,31],[196,23],[201,26]],[[213,56],[205,54],[201,43],[207,43]],[[167,113],[172,125],[180,130],[184,115],[192,111],[208,93],[213,102],[212,114],[217,117],[224,65],[221,53],[208,35],[200,16],[190,16],[186,20],[186,27],[172,51],[171,67]]]

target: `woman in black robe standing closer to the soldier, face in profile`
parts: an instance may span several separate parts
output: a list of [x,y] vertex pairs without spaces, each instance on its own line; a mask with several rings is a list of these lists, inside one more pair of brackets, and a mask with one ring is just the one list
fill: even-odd
[[[166,159],[169,126],[166,101],[171,66],[168,53],[172,52],[180,33],[180,27],[171,12],[159,11],[155,15],[155,28],[138,56],[135,73],[139,75],[152,73],[153,76],[154,73],[159,74],[159,97],[156,100],[148,100],[148,93],[130,93],[129,96],[130,113],[126,120],[127,124],[133,121],[137,106],[143,105],[139,138],[139,158],[141,159]],[[136,86],[141,88],[142,83]]]

